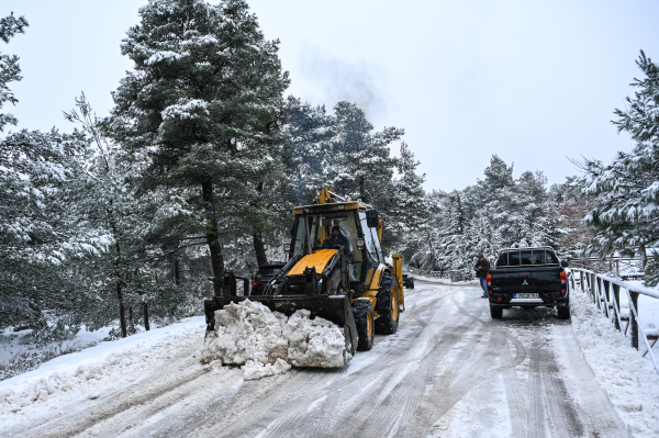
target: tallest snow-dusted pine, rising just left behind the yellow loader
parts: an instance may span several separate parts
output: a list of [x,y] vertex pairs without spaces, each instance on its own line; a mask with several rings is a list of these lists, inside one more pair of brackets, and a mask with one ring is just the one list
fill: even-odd
[[187,190],[188,232],[205,235],[220,279],[223,242],[254,232],[244,226],[260,212],[244,203],[258,199],[253,182],[279,166],[289,83],[279,42],[264,38],[243,0],[150,0],[139,15],[122,44],[135,69],[113,94],[111,135],[148,154],[147,187]]

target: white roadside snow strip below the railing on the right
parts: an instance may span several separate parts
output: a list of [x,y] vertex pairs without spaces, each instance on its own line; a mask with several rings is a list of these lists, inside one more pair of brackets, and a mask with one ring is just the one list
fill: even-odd
[[627,345],[587,294],[574,291],[570,304],[579,346],[621,418],[635,436],[659,436],[659,375],[652,363]]

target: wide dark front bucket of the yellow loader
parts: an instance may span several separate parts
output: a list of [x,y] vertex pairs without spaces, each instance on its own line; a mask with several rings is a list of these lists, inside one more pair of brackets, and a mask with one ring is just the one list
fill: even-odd
[[231,302],[239,303],[245,300],[259,302],[272,312],[291,316],[295,311],[306,308],[311,318],[320,316],[338,325],[346,339],[346,351],[355,355],[357,348],[357,326],[353,315],[350,300],[346,295],[257,295],[257,296],[213,296],[204,300],[204,313],[208,330],[215,328],[215,311],[224,308]]

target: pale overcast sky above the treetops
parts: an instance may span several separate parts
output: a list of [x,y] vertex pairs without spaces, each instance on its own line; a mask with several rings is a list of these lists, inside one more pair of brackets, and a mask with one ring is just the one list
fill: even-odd
[[[5,106],[19,128],[70,131],[62,111],[85,91],[101,116],[132,63],[120,54],[145,0],[2,0],[30,27],[0,52],[21,57]],[[611,124],[639,76],[659,60],[659,2],[252,0],[267,38],[281,41],[289,93],[331,109],[357,102],[376,128],[405,130],[426,189],[462,189],[492,154],[515,177],[562,182],[568,158],[608,161],[629,139]],[[15,128],[14,128],[15,131]]]

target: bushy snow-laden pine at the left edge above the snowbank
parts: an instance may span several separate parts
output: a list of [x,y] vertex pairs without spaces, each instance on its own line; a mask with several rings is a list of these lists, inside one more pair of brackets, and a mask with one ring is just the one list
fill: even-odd
[[72,259],[99,254],[102,236],[74,226],[63,202],[79,134],[27,132],[0,141],[0,328],[71,311],[79,288]]

